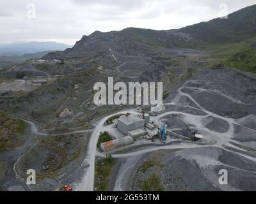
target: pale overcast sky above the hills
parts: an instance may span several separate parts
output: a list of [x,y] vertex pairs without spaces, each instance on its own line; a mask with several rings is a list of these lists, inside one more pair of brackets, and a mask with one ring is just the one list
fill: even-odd
[[0,43],[74,45],[96,30],[175,29],[252,4],[255,0],[0,0]]

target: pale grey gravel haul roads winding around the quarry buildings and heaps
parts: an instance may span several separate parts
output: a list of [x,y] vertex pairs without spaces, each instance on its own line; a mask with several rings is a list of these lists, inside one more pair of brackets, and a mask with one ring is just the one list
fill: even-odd
[[[214,138],[216,138],[216,143],[214,144],[209,144],[209,145],[198,145],[198,144],[193,144],[193,143],[181,143],[179,145],[165,145],[165,146],[160,146],[160,147],[153,147],[153,148],[148,148],[148,149],[144,149],[144,150],[138,150],[136,152],[129,152],[129,153],[125,153],[125,154],[113,154],[113,157],[130,157],[130,156],[138,156],[138,155],[141,155],[141,154],[145,154],[147,152],[152,152],[152,151],[155,151],[155,150],[170,150],[170,149],[189,149],[189,148],[200,148],[200,147],[219,147],[221,149],[224,149],[223,145],[227,145],[227,147],[232,147],[232,148],[235,148],[237,150],[242,150],[232,144],[230,144],[229,142],[233,141],[231,138],[232,136],[234,135],[234,124],[237,124],[235,122],[235,119],[232,119],[232,118],[227,118],[227,117],[222,117],[220,115],[217,115],[216,113],[212,113],[210,112],[209,110],[205,110],[205,108],[203,108],[194,98],[192,98],[189,94],[186,94],[184,92],[182,92],[182,89],[183,88],[188,88],[190,89],[191,87],[186,87],[186,84],[188,82],[191,82],[191,80],[187,81],[184,85],[182,85],[182,87],[180,87],[178,89],[178,92],[179,92],[179,95],[180,96],[187,96],[189,99],[191,99],[191,101],[193,101],[196,106],[198,106],[198,110],[201,110],[202,112],[205,112],[205,115],[192,115],[192,114],[189,114],[189,113],[184,113],[184,112],[166,112],[166,113],[162,113],[160,115],[157,115],[156,117],[152,117],[154,121],[156,120],[161,120],[163,117],[167,116],[167,115],[171,115],[171,114],[180,114],[180,115],[183,115],[184,117],[184,120],[186,120],[186,122],[190,123],[190,124],[195,124],[195,126],[202,130],[202,131],[205,131],[207,133],[209,133],[209,135],[212,135],[214,136]],[[193,81],[193,83],[196,83],[196,81]],[[193,88],[191,88],[193,89]],[[207,89],[201,89],[200,88],[200,91],[209,91]],[[225,96],[226,98],[230,99],[232,102],[235,102],[235,103],[241,103],[240,101],[237,101],[236,99],[234,98],[230,98],[229,96],[225,95],[225,94],[222,94],[220,93],[222,96]],[[192,107],[194,108],[194,107]],[[92,133],[92,137],[90,139],[90,144],[88,145],[89,149],[88,149],[88,156],[86,157],[86,160],[84,161],[85,163],[87,163],[89,165],[84,177],[83,177],[83,180],[81,181],[81,184],[77,185],[76,187],[76,191],[93,191],[93,187],[94,187],[94,177],[95,177],[95,172],[94,172],[94,168],[95,168],[95,156],[102,156],[104,157],[105,155],[100,153],[100,152],[97,152],[97,141],[99,139],[99,135],[100,135],[100,132],[101,131],[104,131],[104,122],[109,118],[109,117],[112,117],[113,115],[117,115],[117,114],[122,114],[122,113],[126,113],[127,111],[123,111],[123,112],[118,112],[118,113],[115,113],[115,114],[112,114],[112,115],[108,115],[106,117],[104,117],[103,119],[101,119],[99,121],[99,124],[97,124],[97,126],[95,127],[95,130],[93,131]],[[136,113],[134,112],[134,110],[129,110],[129,112],[131,113]],[[211,131],[209,130],[208,128],[204,128],[202,126],[202,123],[200,122],[200,119],[204,118],[204,117],[209,117],[209,116],[212,116],[212,117],[216,117],[218,119],[221,119],[221,120],[225,120],[226,122],[228,122],[229,124],[229,129],[226,133],[217,133],[215,131]],[[241,126],[240,124],[237,124],[239,126]],[[244,126],[243,126],[244,127]],[[246,128],[246,127],[244,127]],[[250,128],[248,128],[250,129]],[[250,129],[252,131],[255,131],[254,129]],[[256,132],[256,131],[255,131]],[[227,150],[227,149],[225,149]],[[232,150],[228,150],[230,152],[234,152]],[[242,153],[239,153],[239,152],[235,152],[236,154],[239,154],[241,156],[244,156],[252,161],[255,161],[256,162],[256,159],[252,156],[248,156],[246,154],[242,154]]]

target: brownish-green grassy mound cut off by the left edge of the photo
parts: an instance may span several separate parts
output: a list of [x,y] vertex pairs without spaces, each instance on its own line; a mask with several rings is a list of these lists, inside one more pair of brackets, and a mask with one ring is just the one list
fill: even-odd
[[26,122],[0,113],[0,151],[16,149],[24,143]]

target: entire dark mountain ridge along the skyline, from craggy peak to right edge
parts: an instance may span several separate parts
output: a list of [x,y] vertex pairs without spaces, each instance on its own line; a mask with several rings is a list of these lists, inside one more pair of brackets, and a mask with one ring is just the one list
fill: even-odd
[[256,4],[228,15],[227,19],[216,18],[181,29],[154,31],[127,28],[108,33],[95,31],[90,36],[83,36],[73,48],[51,52],[43,58],[79,61],[86,57],[112,55],[115,60],[115,55],[145,55],[159,47],[195,48],[198,45],[242,41],[254,36]]

